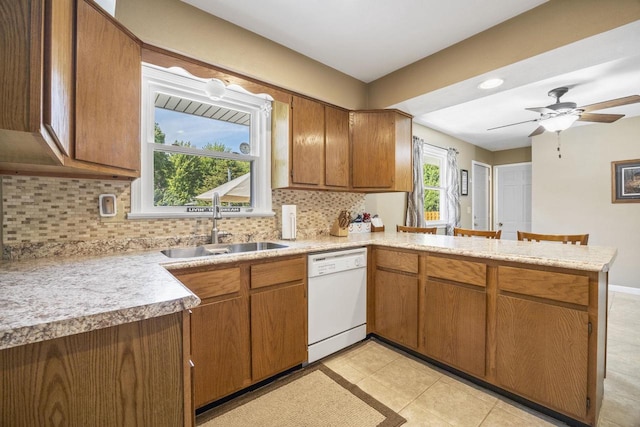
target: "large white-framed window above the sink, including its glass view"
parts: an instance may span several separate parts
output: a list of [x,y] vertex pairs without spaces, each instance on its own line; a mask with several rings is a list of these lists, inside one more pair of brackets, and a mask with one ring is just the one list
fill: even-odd
[[[222,92],[209,91],[212,83]],[[142,67],[142,171],[129,218],[271,216],[271,101],[183,69]]]

